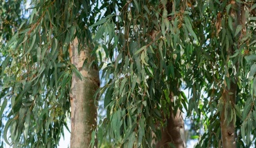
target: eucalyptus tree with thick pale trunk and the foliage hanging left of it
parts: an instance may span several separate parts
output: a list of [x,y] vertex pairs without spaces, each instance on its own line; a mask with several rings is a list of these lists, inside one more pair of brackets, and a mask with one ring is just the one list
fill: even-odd
[[57,147],[71,116],[71,147],[89,147],[99,82],[97,62],[85,49],[93,50],[88,28],[98,2],[31,3],[29,19],[4,49],[9,65],[3,65],[4,87],[11,104],[4,139],[13,147]]

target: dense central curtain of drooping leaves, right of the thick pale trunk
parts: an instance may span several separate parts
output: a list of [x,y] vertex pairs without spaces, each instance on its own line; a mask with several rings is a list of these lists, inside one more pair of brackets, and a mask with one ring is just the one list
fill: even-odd
[[[174,30],[180,31],[179,19],[168,20],[166,4],[129,1],[118,9],[120,14],[109,14],[95,23],[100,26],[94,40],[103,37],[104,52],[113,59],[102,72],[111,78],[100,90],[100,94],[106,93],[107,107],[107,118],[98,129],[100,140],[108,131],[116,145],[151,147],[152,131],[159,134],[156,124],[163,124],[163,116],[169,116],[170,105],[177,109],[183,103],[187,107],[184,93],[176,89],[181,85],[180,47],[174,51],[176,43],[171,43]],[[182,5],[177,3],[177,11]],[[190,24],[190,20],[186,23]],[[182,32],[190,32],[183,29]],[[175,105],[170,101],[171,92],[179,100]]]

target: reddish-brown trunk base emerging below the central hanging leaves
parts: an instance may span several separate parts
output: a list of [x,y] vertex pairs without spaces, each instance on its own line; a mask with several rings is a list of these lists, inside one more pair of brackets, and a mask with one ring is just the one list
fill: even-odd
[[[174,101],[174,94],[171,94],[171,101]],[[170,109],[170,118],[167,118],[167,127],[161,129],[161,140],[156,143],[157,148],[172,147],[184,148],[185,129],[181,111],[178,109],[176,115]]]

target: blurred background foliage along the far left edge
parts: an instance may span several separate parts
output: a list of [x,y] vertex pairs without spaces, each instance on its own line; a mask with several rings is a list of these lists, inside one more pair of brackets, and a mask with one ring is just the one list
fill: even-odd
[[[6,51],[3,50],[3,45],[10,40],[15,32],[17,32],[17,28],[21,24],[21,21],[24,20],[24,14],[26,13],[24,8],[25,3],[26,1],[1,1],[0,3],[0,73],[2,73],[3,60],[6,57]],[[8,106],[6,107],[6,110],[10,107],[7,104],[7,101],[3,100],[8,89],[3,89],[1,86],[3,86],[2,76],[0,81],[0,130],[3,131],[3,125],[6,119],[6,114],[3,114],[5,112],[4,109],[5,106]],[[1,132],[0,147],[4,146],[2,136],[3,133]]]

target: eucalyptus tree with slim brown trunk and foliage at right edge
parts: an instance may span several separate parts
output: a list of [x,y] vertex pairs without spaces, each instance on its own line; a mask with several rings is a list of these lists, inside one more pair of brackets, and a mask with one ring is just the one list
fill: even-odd
[[205,129],[198,147],[254,145],[255,1],[197,1],[196,6],[192,18],[200,42],[188,46],[194,54],[185,81],[190,107],[196,107],[193,101],[199,105],[195,116]]

